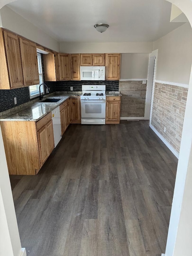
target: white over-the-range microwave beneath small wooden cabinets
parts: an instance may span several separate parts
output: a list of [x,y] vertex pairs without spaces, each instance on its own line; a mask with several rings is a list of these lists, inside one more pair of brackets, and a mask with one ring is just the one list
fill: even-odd
[[80,67],[81,80],[105,80],[105,66],[81,66]]

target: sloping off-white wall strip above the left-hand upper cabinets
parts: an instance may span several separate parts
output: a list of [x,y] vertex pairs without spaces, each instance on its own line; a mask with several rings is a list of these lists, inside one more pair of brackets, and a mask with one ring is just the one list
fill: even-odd
[[35,41],[42,46],[45,46],[49,49],[60,51],[60,45],[58,41],[50,37],[44,31],[34,26],[28,20],[21,17],[19,14],[16,14],[7,6],[4,6],[0,9],[1,22],[0,26],[9,29],[16,34],[22,35],[23,37],[28,38],[29,40]]

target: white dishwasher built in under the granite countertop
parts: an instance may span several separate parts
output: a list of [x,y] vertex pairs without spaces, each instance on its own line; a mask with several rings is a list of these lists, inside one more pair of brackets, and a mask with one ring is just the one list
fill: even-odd
[[56,107],[52,111],[52,121],[53,121],[53,134],[55,147],[61,140],[61,118],[60,118],[60,108]]

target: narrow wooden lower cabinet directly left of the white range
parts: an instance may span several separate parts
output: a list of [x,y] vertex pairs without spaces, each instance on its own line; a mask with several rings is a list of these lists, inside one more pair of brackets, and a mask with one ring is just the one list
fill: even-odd
[[81,123],[80,97],[72,97],[71,100],[71,124]]

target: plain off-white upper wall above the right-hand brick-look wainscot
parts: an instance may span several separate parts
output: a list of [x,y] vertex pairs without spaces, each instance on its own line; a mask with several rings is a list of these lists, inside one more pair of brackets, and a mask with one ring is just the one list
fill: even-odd
[[156,80],[189,84],[192,63],[192,29],[189,23],[154,42],[158,49]]

